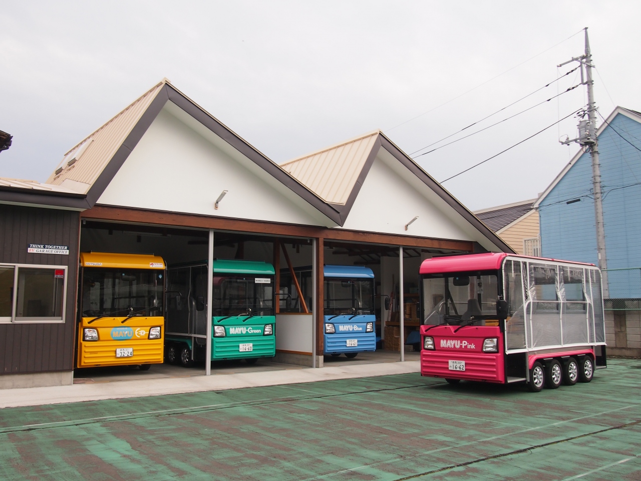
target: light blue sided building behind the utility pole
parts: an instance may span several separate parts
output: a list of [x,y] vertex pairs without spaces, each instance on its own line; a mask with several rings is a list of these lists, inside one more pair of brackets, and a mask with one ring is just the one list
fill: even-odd
[[[617,107],[597,131],[610,298],[641,298],[641,113]],[[542,255],[597,264],[592,160],[579,151],[535,203]]]

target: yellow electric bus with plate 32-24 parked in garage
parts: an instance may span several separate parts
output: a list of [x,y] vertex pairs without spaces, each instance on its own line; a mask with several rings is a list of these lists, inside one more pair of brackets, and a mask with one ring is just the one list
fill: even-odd
[[142,254],[80,254],[77,367],[163,362],[165,261]]

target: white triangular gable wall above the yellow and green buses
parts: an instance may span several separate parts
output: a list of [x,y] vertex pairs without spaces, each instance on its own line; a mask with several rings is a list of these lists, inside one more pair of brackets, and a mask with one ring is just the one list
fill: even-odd
[[[303,210],[308,206],[303,199],[293,202],[285,197],[256,175],[264,173],[260,167],[262,172],[249,171],[172,115],[172,110],[182,112],[167,103],[97,203],[257,221],[324,224],[320,221],[322,214],[310,215]],[[267,173],[264,176],[272,178]],[[222,190],[228,193],[215,210],[214,202]]]

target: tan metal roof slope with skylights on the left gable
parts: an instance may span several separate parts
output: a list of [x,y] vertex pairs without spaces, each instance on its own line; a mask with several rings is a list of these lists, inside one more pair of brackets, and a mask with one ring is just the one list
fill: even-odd
[[165,83],[169,83],[166,78],[69,149],[47,183],[61,185],[68,180],[65,186],[86,194]]

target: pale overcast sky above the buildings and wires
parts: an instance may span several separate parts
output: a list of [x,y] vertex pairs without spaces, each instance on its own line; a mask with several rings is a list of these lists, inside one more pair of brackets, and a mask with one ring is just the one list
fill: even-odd
[[[46,180],[163,77],[278,163],[377,128],[413,153],[570,71],[556,65],[583,53],[586,26],[601,114],[641,110],[640,17],[638,1],[3,0],[0,130],[14,139],[0,176]],[[579,87],[417,162],[442,181],[584,103]],[[535,198],[578,149],[559,137],[575,133],[570,117],[444,187],[472,209]]]

